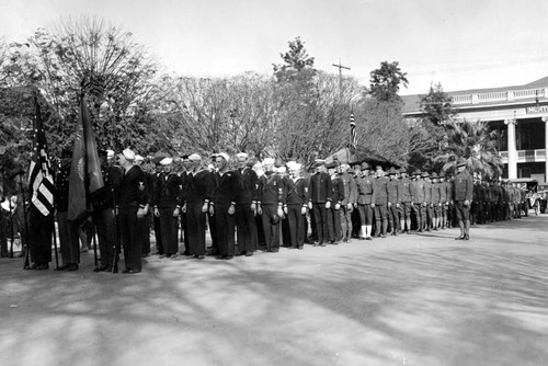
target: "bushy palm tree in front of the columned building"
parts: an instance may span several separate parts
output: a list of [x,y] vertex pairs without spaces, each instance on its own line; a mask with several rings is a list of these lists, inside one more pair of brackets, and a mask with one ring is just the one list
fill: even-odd
[[457,159],[463,157],[472,173],[490,178],[502,174],[496,131],[490,130],[487,122],[452,121],[446,125],[446,131],[444,153],[434,159],[435,162],[443,163],[442,171],[454,169]]

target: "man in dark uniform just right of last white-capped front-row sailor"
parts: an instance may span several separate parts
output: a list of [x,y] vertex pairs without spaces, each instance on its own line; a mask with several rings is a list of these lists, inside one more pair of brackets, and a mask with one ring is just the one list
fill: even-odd
[[328,220],[328,209],[331,209],[331,178],[326,172],[324,161],[316,162],[317,172],[310,176],[310,198],[308,207],[312,210],[318,244],[326,247],[329,240],[329,227],[332,221]]

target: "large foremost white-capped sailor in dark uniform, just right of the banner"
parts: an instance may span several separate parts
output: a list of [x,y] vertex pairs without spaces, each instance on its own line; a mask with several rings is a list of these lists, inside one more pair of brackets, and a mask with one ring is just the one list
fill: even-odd
[[140,221],[148,211],[146,176],[135,164],[135,152],[125,149],[118,153],[119,165],[124,170],[117,192],[117,215],[122,245],[124,247],[125,270],[122,273],[139,273],[142,267]]

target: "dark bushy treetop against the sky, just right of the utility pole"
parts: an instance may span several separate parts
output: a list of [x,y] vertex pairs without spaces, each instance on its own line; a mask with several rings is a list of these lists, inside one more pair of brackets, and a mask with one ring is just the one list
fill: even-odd
[[400,102],[398,95],[400,85],[407,88],[407,72],[402,72],[398,61],[380,62],[380,68],[370,72],[370,88],[367,92],[370,96],[381,102]]

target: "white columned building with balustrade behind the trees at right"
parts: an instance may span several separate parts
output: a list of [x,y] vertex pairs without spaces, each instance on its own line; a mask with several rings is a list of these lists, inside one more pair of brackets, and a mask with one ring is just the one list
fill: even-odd
[[[499,133],[503,178],[548,181],[548,77],[520,87],[446,92],[458,121],[486,121]],[[404,95],[403,115],[421,118],[423,95]]]

